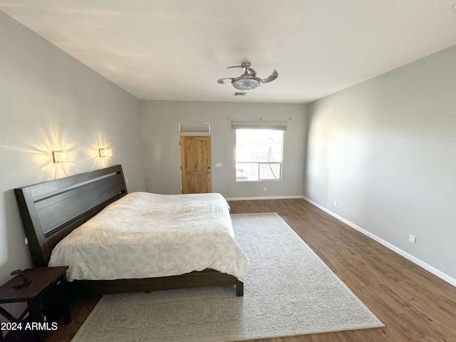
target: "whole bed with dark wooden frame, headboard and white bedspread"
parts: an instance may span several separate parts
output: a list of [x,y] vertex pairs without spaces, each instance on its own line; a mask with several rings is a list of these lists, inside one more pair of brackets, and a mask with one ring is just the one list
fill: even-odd
[[[248,260],[221,195],[128,194],[121,165],[15,193],[34,266],[68,264],[67,278],[77,291],[234,284],[243,295]],[[186,258],[190,262],[180,262]]]

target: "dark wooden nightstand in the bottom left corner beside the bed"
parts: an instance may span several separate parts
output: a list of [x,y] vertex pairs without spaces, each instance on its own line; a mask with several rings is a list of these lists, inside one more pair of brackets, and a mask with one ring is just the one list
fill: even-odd
[[[59,306],[63,312],[64,322],[70,323],[70,307],[68,304],[68,297],[66,296],[66,275],[65,272],[68,266],[58,267],[38,267],[36,269],[25,269],[24,276],[31,279],[31,282],[24,287],[15,287],[21,281],[21,276],[17,275],[9,280],[6,284],[0,287],[0,304],[17,303],[26,301],[27,308],[24,313],[16,318],[9,314],[4,308],[0,306],[0,314],[8,319],[12,324],[9,325],[11,332],[14,330],[21,333],[36,333],[37,336],[43,336],[46,330],[55,330],[56,323],[45,321],[46,316],[46,301],[43,299],[55,287],[60,295]],[[28,318],[24,316],[28,313]],[[46,317],[48,318],[48,317]],[[21,323],[20,328],[19,323]],[[16,329],[14,329],[16,327]],[[7,335],[9,336],[9,334]],[[0,341],[3,341],[3,333],[0,331]],[[38,337],[39,338],[39,337]]]

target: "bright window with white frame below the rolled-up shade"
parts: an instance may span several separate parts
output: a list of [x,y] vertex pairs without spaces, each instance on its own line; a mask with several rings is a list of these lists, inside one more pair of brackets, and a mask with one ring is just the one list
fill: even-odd
[[281,180],[283,130],[236,130],[236,181]]

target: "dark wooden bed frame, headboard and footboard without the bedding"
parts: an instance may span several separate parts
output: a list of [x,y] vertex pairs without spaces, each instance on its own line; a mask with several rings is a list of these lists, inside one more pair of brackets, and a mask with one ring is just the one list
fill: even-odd
[[[59,180],[15,189],[31,258],[35,267],[48,266],[52,249],[81,224],[108,204],[127,194],[121,165]],[[243,296],[244,284],[235,276],[214,269],[180,276],[145,279],[75,280],[69,283],[85,294],[150,292],[203,286],[236,285]]]

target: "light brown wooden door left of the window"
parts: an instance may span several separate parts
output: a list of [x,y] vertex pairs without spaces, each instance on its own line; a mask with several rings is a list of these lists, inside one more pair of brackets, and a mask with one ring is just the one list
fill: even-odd
[[182,194],[212,192],[211,137],[180,137]]

